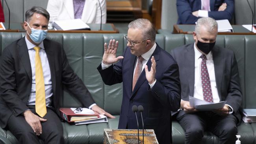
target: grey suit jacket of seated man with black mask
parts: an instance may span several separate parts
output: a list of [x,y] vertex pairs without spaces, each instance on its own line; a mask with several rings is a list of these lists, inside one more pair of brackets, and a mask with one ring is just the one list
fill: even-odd
[[[220,101],[233,108],[237,122],[241,120],[240,109],[242,93],[240,89],[239,74],[236,57],[231,50],[215,46],[212,50],[215,80]],[[195,51],[194,44],[187,44],[171,51],[180,68],[180,83],[182,87],[182,100],[189,101],[194,96],[195,85]],[[178,116],[185,114],[179,111]],[[177,117],[178,117],[177,116]]]

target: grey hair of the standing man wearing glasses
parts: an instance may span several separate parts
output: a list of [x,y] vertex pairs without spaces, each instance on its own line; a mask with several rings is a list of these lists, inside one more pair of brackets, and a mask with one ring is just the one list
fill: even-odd
[[143,38],[148,39],[152,42],[156,41],[156,28],[147,19],[138,18],[136,20],[133,20],[128,25],[128,28],[140,29],[142,30]]

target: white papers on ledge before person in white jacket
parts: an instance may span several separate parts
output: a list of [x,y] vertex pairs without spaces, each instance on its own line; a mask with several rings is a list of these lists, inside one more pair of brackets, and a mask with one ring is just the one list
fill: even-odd
[[80,18],[73,20],[58,20],[55,21],[54,29],[56,30],[91,30]]

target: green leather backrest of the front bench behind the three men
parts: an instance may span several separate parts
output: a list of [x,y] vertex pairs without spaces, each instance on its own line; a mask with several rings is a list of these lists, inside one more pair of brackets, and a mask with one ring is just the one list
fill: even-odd
[[[22,38],[25,33],[1,32],[0,50],[11,42]],[[122,55],[126,47],[125,34],[89,34],[89,33],[48,33],[47,38],[62,44],[70,66],[83,80],[95,102],[111,114],[119,114],[122,102],[122,83],[104,85],[96,67],[102,61],[104,42],[110,39],[119,41],[117,56]],[[256,108],[256,35],[218,35],[216,45],[233,50],[239,69],[243,107]],[[193,43],[193,35],[156,35],[156,42],[167,52],[184,44]],[[2,52],[2,51],[1,51]],[[1,55],[0,55],[1,57]],[[81,103],[65,92],[63,107],[79,107]]]

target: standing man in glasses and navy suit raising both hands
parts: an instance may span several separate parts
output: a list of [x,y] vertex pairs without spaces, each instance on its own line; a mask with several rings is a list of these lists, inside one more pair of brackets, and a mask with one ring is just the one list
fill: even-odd
[[137,19],[128,27],[125,36],[128,43],[123,56],[116,57],[118,41],[110,40],[108,48],[104,44],[102,63],[98,67],[106,85],[123,83],[118,128],[137,129],[132,106],[142,105],[144,128],[154,129],[160,144],[170,144],[170,111],[180,107],[178,65],[156,44],[156,30],[149,20]]

